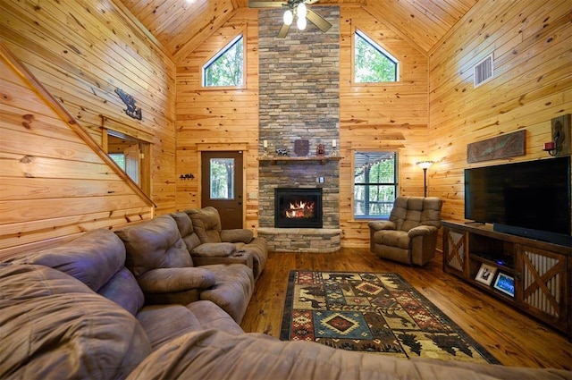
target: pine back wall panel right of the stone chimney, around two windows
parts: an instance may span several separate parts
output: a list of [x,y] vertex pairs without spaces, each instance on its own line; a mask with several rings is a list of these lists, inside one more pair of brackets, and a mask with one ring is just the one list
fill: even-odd
[[[366,7],[366,9],[368,9]],[[428,62],[423,51],[402,38],[365,9],[341,7],[340,80],[340,221],[343,247],[368,247],[367,221],[353,217],[352,156],[356,149],[397,150],[400,195],[423,194],[423,171],[416,161],[426,158],[428,139]],[[353,30],[357,28],[400,60],[400,81],[385,85],[352,85]]]

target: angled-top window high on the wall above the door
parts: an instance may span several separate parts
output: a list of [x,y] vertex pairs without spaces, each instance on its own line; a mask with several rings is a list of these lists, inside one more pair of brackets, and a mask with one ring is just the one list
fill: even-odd
[[237,87],[243,84],[244,46],[240,35],[203,66],[203,86]]

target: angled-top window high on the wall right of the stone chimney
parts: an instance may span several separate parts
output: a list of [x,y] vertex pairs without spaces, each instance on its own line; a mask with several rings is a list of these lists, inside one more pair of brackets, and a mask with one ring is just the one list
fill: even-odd
[[354,49],[355,83],[399,80],[399,61],[360,30],[356,30]]

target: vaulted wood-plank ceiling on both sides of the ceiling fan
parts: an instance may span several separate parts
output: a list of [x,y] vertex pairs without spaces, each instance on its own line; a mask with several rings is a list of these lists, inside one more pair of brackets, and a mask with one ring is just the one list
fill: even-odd
[[[120,0],[175,62],[191,53],[248,0]],[[280,0],[274,0],[282,3]],[[478,0],[320,0],[361,6],[427,54]]]

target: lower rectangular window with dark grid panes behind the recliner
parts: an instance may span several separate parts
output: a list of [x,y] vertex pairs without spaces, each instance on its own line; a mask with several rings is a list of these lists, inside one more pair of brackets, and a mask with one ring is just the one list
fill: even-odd
[[354,153],[354,217],[388,218],[398,192],[397,152]]

